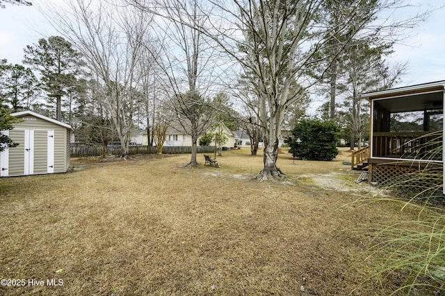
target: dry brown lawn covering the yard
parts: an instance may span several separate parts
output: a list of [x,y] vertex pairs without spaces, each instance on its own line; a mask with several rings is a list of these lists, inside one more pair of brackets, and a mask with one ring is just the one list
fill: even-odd
[[248,149],[223,151],[221,168],[137,155],[2,178],[0,279],[16,286],[0,294],[387,295],[402,276],[363,283],[378,266],[359,225],[414,213],[355,202],[375,188],[354,183],[349,157],[293,165],[284,151],[282,182],[253,181]]

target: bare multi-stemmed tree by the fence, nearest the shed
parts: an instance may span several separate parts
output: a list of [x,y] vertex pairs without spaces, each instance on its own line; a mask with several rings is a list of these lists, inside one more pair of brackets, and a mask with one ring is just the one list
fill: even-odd
[[104,107],[122,143],[121,153],[127,155],[143,78],[138,64],[151,19],[132,6],[117,7],[118,3],[63,0],[42,12],[83,53],[106,87]]

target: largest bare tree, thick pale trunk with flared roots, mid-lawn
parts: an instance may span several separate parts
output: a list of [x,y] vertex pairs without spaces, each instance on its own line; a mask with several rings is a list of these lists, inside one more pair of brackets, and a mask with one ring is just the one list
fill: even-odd
[[[370,10],[357,21],[362,1],[356,0],[350,2],[342,16],[343,21],[332,28],[328,22],[320,20],[324,2],[213,0],[213,10],[202,7],[201,15],[208,15],[208,21],[200,31],[212,37],[240,64],[258,98],[259,124],[264,137],[264,168],[257,180],[284,177],[276,166],[284,114],[289,105],[304,98],[305,90],[318,82],[308,73],[313,64],[322,61],[332,64],[342,46],[346,46],[357,33],[390,33],[415,23],[396,20],[369,24],[369,20],[382,10],[400,7],[400,1],[396,0],[380,1],[377,9]],[[218,27],[218,24],[223,25]],[[196,27],[197,24],[190,26]],[[329,55],[320,55],[325,44],[334,43],[338,36],[348,38],[342,40],[342,46],[334,46]],[[291,91],[295,81],[300,89]]]

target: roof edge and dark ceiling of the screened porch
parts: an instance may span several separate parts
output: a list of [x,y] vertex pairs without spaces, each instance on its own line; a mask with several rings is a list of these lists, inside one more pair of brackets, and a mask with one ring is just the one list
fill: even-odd
[[443,108],[445,80],[362,94],[368,101],[391,113],[438,110]]

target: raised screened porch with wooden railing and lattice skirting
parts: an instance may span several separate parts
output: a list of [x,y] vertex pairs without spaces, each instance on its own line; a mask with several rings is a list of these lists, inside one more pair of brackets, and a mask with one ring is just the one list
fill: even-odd
[[362,94],[371,105],[369,182],[444,172],[444,89],[445,80]]

